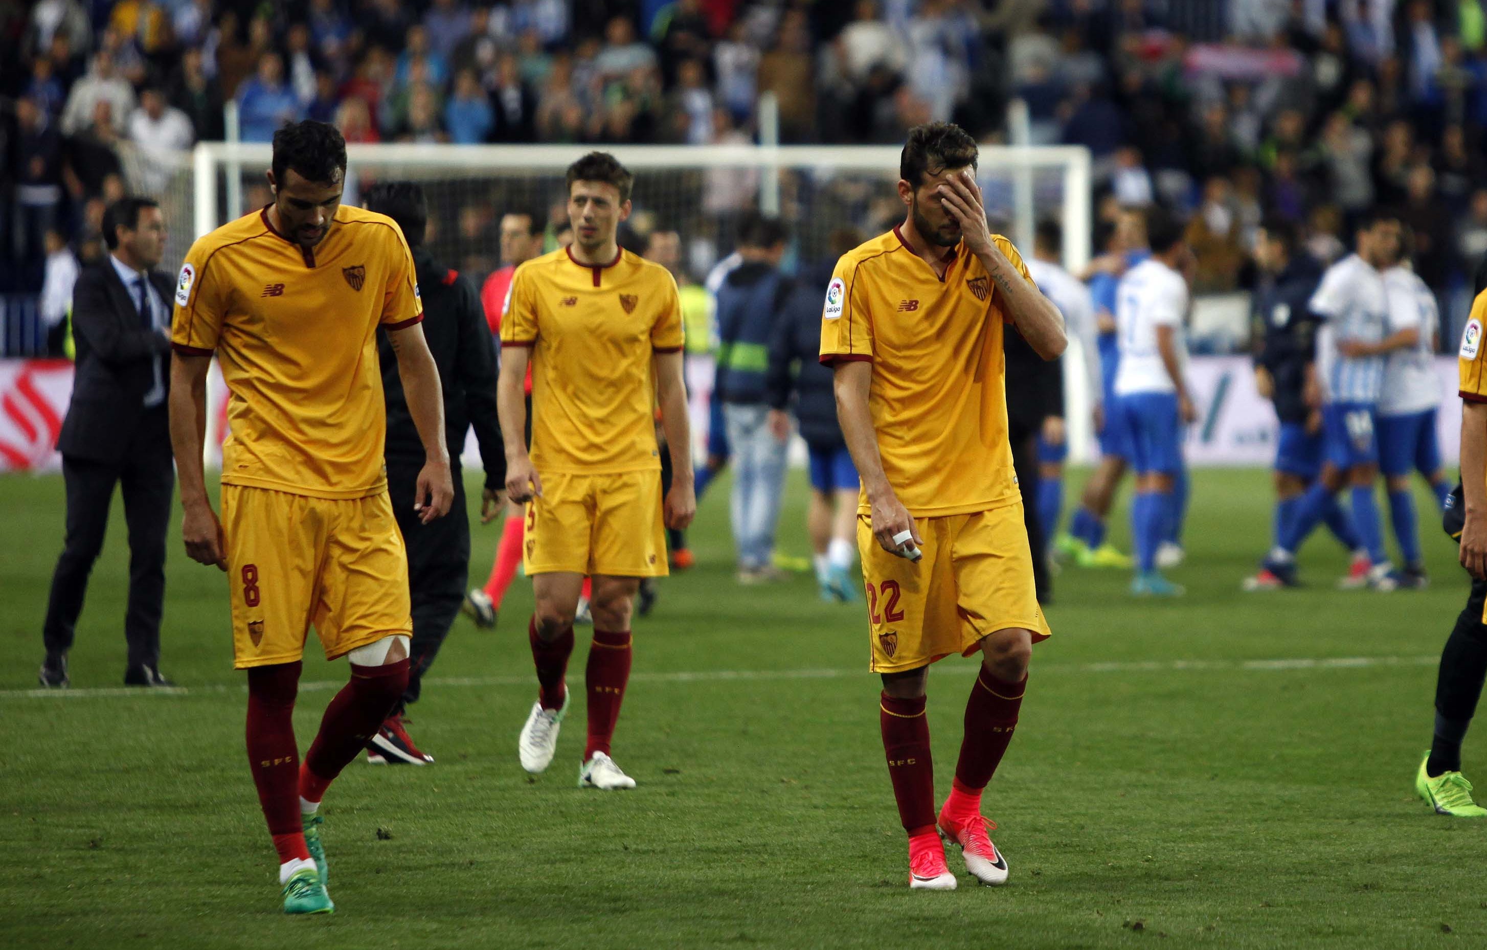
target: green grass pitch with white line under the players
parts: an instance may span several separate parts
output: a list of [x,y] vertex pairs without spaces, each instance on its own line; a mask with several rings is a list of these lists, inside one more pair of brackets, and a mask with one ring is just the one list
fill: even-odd
[[[958,892],[906,888],[862,608],[819,604],[804,575],[738,587],[720,485],[691,532],[699,566],[636,624],[614,748],[636,791],[575,788],[581,708],[547,775],[517,766],[535,691],[517,578],[497,632],[461,618],[412,709],[439,763],[358,761],[332,788],[336,914],[284,919],[223,575],[187,562],[172,529],[162,668],[186,691],[82,691],[123,673],[116,504],[71,657],[79,693],[36,696],[62,486],[0,479],[0,944],[1487,946],[1487,824],[1433,816],[1411,791],[1466,590],[1428,497],[1429,590],[1335,592],[1344,559],[1319,535],[1303,556],[1312,589],[1254,596],[1239,580],[1268,537],[1268,476],[1193,483],[1190,560],[1173,572],[1187,599],[1133,602],[1118,572],[1057,581],[1054,638],[986,795],[1004,889],[971,886],[953,850]],[[803,503],[796,480],[781,532],[796,555]],[[483,578],[498,529],[473,532]],[[1127,546],[1124,528],[1114,537]],[[583,662],[580,645],[575,682]],[[929,679],[941,797],[972,669],[946,660]],[[302,749],[343,678],[306,659]],[[1468,745],[1468,775],[1487,775],[1481,748]]]

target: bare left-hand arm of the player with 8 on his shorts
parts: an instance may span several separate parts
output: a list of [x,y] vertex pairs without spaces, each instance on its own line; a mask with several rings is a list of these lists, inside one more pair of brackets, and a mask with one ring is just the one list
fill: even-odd
[[207,370],[211,357],[171,354],[171,449],[175,453],[175,473],[181,486],[181,540],[186,555],[198,563],[211,563],[226,571],[228,546],[222,534],[222,522],[211,510],[207,497],[207,476],[202,471],[202,452],[207,447]]

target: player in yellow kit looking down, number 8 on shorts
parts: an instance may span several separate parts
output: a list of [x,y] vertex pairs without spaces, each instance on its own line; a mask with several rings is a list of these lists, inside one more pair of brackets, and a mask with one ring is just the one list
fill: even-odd
[[[341,204],[346,143],[300,122],[274,134],[274,204],[199,238],[175,288],[171,442],[186,553],[228,572],[232,644],[248,673],[248,766],[280,853],[286,913],[329,913],[320,800],[407,685],[407,558],[382,470],[376,332],[397,351],[427,462],[410,504],[454,497],[439,369],[418,326],[393,219]],[[222,519],[202,476],[211,355],[228,384]],[[309,627],[351,681],[299,763],[291,715]]]

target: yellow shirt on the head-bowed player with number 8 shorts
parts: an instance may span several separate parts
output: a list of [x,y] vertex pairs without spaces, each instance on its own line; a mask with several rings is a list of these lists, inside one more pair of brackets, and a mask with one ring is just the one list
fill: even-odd
[[225,485],[315,498],[385,489],[376,330],[422,320],[416,279],[393,219],[348,205],[312,251],[274,230],[268,210],[192,245],[171,342],[222,363]]

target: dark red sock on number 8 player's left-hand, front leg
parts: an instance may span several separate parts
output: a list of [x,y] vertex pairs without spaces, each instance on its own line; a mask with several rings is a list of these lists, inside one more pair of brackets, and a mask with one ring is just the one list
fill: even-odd
[[299,671],[299,663],[248,671],[248,767],[280,864],[309,858],[299,821],[299,746],[294,745]]

